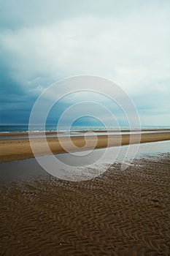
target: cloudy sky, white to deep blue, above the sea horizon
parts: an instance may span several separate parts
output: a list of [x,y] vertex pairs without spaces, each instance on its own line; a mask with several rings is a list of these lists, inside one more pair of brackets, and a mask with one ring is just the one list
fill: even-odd
[[[28,124],[58,80],[96,75],[127,92],[142,125],[170,125],[169,0],[1,0],[0,19],[1,124]],[[58,103],[51,123],[77,100]]]

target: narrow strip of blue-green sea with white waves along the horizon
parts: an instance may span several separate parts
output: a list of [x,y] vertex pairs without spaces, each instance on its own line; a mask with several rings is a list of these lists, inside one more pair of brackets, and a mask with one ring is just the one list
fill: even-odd
[[[4,132],[28,132],[28,125],[0,125],[0,133]],[[77,132],[77,131],[100,131],[106,129],[104,126],[97,127],[93,125],[88,126],[72,126],[70,127],[57,127],[56,125],[46,125],[46,127],[43,127],[41,125],[35,125],[31,126],[30,130],[31,132]],[[107,130],[129,130],[130,127],[107,127]],[[133,129],[170,129],[170,126],[141,126],[141,127],[133,127]]]

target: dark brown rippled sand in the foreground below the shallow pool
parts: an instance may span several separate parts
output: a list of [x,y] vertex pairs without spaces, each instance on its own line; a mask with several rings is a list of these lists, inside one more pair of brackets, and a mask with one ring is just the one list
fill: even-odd
[[170,255],[169,154],[1,192],[1,255]]

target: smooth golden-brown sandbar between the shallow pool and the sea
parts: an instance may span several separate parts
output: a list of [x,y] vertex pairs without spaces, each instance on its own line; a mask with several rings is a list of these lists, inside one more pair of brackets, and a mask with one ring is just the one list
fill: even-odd
[[[23,133],[22,133],[23,134]],[[96,133],[97,134],[97,133]],[[13,135],[15,138],[17,135]],[[109,140],[108,140],[109,137]],[[97,138],[97,143],[96,143]],[[139,143],[139,135],[131,135],[131,143]],[[96,135],[95,136],[73,136],[70,143],[69,138],[60,138],[68,151],[77,151],[73,148],[77,146],[79,150],[87,150],[91,148],[105,148],[107,146],[128,145],[130,143],[130,135]],[[140,143],[155,142],[161,140],[170,140],[170,132],[148,132],[141,135]],[[109,141],[109,144],[108,144]],[[49,154],[45,148],[44,142],[41,138],[34,138],[36,144],[36,156],[45,156]],[[53,154],[61,154],[66,152],[61,146],[58,138],[47,138],[47,143]],[[82,148],[83,147],[83,148]],[[13,139],[0,141],[0,162],[9,162],[19,159],[28,159],[34,157],[31,151],[31,146],[28,139]]]

